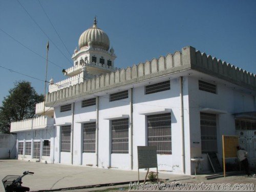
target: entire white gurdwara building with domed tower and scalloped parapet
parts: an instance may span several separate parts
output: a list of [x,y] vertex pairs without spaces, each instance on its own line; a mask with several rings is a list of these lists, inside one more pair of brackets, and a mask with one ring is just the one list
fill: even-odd
[[[137,146],[156,145],[158,170],[191,175],[191,159],[204,158],[209,172],[207,153],[222,163],[222,135],[239,135],[255,166],[254,74],[193,47],[120,70],[109,48],[95,20],[70,77],[51,80],[46,116],[11,124],[18,159],[137,170]],[[38,103],[36,114],[43,109]]]

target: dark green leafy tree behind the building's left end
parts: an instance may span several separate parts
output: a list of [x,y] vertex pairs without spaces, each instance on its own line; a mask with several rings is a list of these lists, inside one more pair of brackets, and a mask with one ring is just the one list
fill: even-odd
[[31,83],[19,81],[9,90],[0,106],[0,132],[10,133],[12,121],[30,119],[35,116],[35,104],[44,101],[44,95],[38,95]]

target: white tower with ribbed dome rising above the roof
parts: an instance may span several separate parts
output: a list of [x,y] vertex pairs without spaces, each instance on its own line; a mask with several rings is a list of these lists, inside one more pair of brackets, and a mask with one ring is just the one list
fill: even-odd
[[80,35],[78,45],[79,50],[75,49],[72,55],[74,66],[67,69],[65,75],[74,76],[85,70],[84,78],[92,78],[115,70],[114,49],[110,49],[108,35],[98,28],[96,17],[93,26]]

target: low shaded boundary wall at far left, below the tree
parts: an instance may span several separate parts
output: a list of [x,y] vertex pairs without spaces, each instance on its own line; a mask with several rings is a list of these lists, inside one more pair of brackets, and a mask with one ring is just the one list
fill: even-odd
[[[12,134],[0,134],[0,159],[16,158],[17,136]],[[10,151],[10,157],[9,157]]]

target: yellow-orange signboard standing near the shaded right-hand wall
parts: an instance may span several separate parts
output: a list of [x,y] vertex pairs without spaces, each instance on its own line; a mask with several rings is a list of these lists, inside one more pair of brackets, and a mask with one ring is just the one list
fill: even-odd
[[238,136],[223,136],[225,158],[237,158]]

